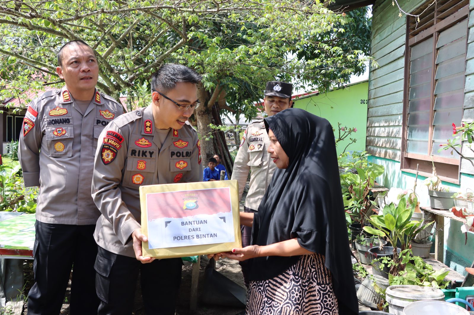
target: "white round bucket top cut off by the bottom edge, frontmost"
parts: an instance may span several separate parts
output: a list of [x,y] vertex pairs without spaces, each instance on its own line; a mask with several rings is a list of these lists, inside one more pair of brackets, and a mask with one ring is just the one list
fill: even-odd
[[404,315],[469,315],[461,306],[443,301],[417,301],[410,303],[403,311]]

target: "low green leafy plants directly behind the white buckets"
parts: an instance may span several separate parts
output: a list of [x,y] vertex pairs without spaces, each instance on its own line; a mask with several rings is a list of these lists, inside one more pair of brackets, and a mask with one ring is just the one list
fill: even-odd
[[389,274],[389,284],[392,285],[417,285],[432,287],[437,289],[445,289],[449,280],[444,280],[449,274],[441,268],[437,271],[433,267],[419,257],[411,255],[411,250],[405,250],[400,253],[403,257],[401,261],[405,265],[404,270],[399,275]]

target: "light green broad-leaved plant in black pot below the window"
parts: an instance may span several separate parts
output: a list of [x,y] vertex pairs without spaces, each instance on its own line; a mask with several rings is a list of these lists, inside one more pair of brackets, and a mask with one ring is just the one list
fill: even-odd
[[[411,215],[418,204],[416,196],[411,200],[412,202],[407,202],[407,198],[403,197],[400,199],[398,206],[395,206],[393,202],[385,205],[385,207],[383,207],[383,214],[372,215],[368,220],[374,228],[364,227],[364,230],[369,233],[387,238],[394,247],[392,249],[392,259],[396,264],[399,264],[401,261],[401,257],[397,254],[397,244],[400,242],[401,251],[405,250],[408,248],[408,244],[410,244],[413,237],[434,222],[429,222],[421,226],[422,221],[411,220]],[[376,250],[374,251],[375,252],[373,252],[371,248],[369,252],[374,254],[374,256],[378,256],[379,254]],[[401,270],[403,270],[403,266],[401,266]],[[395,274],[395,272],[395,268],[392,267],[390,273]]]

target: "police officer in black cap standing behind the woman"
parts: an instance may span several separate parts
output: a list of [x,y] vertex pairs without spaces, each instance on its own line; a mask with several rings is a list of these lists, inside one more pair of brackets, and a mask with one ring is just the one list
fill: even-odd
[[[277,114],[287,108],[292,107],[291,83],[270,81],[267,82],[264,93],[265,113],[268,116]],[[252,122],[247,126],[240,148],[234,161],[232,179],[237,179],[239,187],[239,200],[246,185],[248,172],[250,171],[250,183],[245,199],[244,212],[256,212],[265,191],[272,180],[275,164],[267,152],[270,139],[265,130],[264,120]],[[242,246],[250,245],[252,228],[242,227]],[[242,266],[242,273],[246,285],[246,262],[239,262]]]

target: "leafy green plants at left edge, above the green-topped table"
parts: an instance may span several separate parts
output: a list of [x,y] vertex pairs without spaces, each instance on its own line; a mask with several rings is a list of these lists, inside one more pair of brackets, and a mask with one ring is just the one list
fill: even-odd
[[0,165],[0,211],[36,212],[37,188],[25,188],[20,163],[9,157]]

